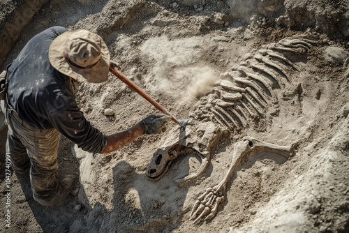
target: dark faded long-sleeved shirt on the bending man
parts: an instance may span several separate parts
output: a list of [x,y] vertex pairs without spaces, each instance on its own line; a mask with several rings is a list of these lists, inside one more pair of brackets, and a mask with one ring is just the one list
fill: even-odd
[[105,149],[107,137],[84,118],[74,85],[48,59],[52,40],[65,31],[51,27],[24,46],[8,67],[8,100],[23,121],[38,129],[56,128],[84,151],[98,153]]

